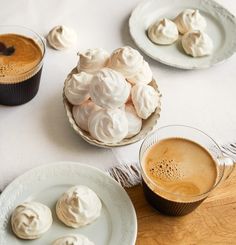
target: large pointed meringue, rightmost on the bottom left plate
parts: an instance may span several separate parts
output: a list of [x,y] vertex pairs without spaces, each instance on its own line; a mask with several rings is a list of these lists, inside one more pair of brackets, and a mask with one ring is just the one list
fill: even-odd
[[100,216],[102,203],[87,186],[73,186],[57,201],[56,213],[65,225],[78,228],[92,223]]

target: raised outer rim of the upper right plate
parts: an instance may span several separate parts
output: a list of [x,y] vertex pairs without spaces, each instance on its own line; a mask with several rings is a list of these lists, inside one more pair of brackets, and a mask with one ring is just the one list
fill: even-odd
[[[159,0],[160,1],[160,0]],[[215,6],[219,9],[221,9],[222,11],[224,11],[224,13],[227,13],[227,17],[230,18],[230,20],[234,23],[235,27],[236,27],[236,17],[227,9],[225,8],[223,5],[221,5],[220,3],[214,1],[214,0],[199,0],[200,2],[207,2],[210,3],[211,6]],[[172,63],[171,61],[166,61],[163,60],[162,58],[156,57],[154,55],[152,55],[151,52],[147,51],[143,45],[141,45],[137,39],[135,38],[134,35],[134,24],[132,22],[134,22],[135,19],[135,15],[136,12],[141,9],[143,7],[143,5],[148,4],[153,2],[153,0],[142,0],[141,2],[139,2],[138,5],[136,5],[136,7],[132,10],[130,17],[129,17],[129,21],[128,21],[128,26],[129,26],[129,33],[130,36],[132,38],[132,40],[134,41],[134,43],[137,45],[137,47],[142,50],[146,55],[148,55],[150,58],[152,58],[153,60],[156,60],[164,65],[170,66],[170,67],[175,67],[178,69],[183,69],[183,70],[199,70],[199,69],[207,69],[210,68],[216,64],[222,63],[224,61],[226,61],[228,58],[230,58],[231,56],[233,56],[236,53],[236,41],[234,42],[234,45],[232,45],[232,50],[227,52],[224,57],[222,57],[222,59],[217,60],[215,62],[208,62],[207,64],[204,65],[195,65],[195,66],[184,66],[181,64],[177,64],[177,63]]]

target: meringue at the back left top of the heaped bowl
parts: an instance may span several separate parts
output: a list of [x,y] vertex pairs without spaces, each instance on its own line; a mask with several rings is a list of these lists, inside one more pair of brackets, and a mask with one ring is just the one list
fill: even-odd
[[109,57],[109,53],[102,48],[88,49],[79,54],[77,70],[93,74],[106,66]]

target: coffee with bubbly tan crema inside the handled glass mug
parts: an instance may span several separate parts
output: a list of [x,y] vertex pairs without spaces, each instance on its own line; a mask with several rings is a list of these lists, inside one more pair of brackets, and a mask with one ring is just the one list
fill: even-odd
[[215,185],[217,178],[211,154],[183,138],[164,139],[150,147],[143,157],[142,169],[148,200],[157,209],[173,215],[176,209],[181,215],[183,206],[188,213],[199,205],[203,201],[200,196]]

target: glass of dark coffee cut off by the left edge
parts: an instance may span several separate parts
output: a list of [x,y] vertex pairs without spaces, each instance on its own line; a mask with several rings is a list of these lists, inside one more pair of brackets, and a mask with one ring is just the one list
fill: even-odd
[[0,104],[21,105],[38,92],[45,43],[21,26],[0,26]]

